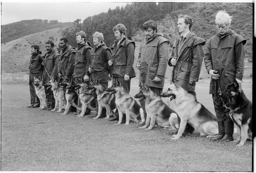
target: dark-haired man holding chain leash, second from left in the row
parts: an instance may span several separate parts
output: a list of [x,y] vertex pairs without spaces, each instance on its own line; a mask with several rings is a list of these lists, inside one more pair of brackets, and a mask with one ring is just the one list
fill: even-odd
[[[54,49],[54,43],[52,41],[46,42],[46,51],[44,62],[42,65],[43,68],[43,79],[42,79],[42,85],[47,84],[51,80],[51,76],[54,76],[56,79],[58,77],[58,63],[60,59],[60,54],[57,50]],[[47,107],[43,108],[46,110],[52,110],[55,107],[55,99],[54,99],[54,93],[51,90],[51,88],[47,89],[45,87],[45,94],[46,94],[46,100],[47,100]]]

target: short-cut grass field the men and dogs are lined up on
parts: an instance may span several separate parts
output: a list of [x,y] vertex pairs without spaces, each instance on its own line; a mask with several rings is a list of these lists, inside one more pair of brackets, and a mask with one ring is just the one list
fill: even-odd
[[[197,99],[214,112],[208,85],[197,84]],[[252,100],[252,84],[243,90]],[[134,80],[130,94],[137,92]],[[28,105],[28,82],[2,82],[1,171],[252,171],[250,141],[237,148],[196,132],[172,140],[173,131],[159,127],[145,131]]]

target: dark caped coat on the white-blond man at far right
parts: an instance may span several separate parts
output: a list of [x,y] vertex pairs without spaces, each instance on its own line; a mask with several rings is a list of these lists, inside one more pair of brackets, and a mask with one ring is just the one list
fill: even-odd
[[[204,54],[204,64],[207,72],[218,71],[220,87],[223,91],[228,80],[235,82],[235,78],[242,80],[244,72],[244,48],[246,39],[229,29],[224,35],[219,33],[207,41]],[[211,78],[209,94],[218,92],[216,81]]]

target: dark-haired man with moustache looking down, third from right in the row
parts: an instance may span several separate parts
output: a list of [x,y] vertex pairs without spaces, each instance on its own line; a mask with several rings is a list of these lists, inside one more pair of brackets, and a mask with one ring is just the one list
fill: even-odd
[[[146,82],[149,88],[160,96],[165,84],[169,40],[158,33],[155,21],[145,22],[143,28],[147,38],[140,44],[139,64],[136,65],[140,70],[139,86],[141,88],[140,83]],[[140,101],[140,104],[146,116],[145,101]]]

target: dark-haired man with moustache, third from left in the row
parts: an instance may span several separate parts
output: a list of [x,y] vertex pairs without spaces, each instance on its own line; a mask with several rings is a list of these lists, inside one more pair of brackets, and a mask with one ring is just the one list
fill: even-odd
[[60,60],[58,64],[58,76],[62,78],[73,78],[72,74],[74,72],[75,63],[75,50],[72,46],[68,45],[67,38],[63,37],[60,39]]

